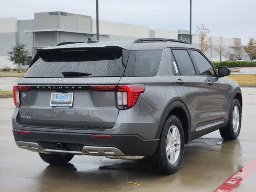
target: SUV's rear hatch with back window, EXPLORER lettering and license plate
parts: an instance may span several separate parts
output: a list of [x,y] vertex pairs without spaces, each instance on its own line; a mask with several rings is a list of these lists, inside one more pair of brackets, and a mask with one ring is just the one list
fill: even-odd
[[[40,50],[19,82],[19,120],[24,126],[105,130],[118,117],[116,85],[128,50]],[[104,85],[104,86],[103,86]]]

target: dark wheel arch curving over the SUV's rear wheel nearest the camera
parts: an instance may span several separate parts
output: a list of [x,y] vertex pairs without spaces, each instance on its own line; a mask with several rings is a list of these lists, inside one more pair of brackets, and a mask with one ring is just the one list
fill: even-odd
[[160,138],[164,123],[170,115],[176,115],[179,118],[184,130],[185,144],[188,143],[188,134],[191,128],[190,114],[186,105],[178,99],[171,101],[163,110],[158,130],[156,132],[156,138]]

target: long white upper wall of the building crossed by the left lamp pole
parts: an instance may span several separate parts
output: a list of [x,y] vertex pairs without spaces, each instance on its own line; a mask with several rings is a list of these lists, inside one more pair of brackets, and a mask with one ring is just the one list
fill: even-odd
[[[99,20],[99,33],[113,36],[149,38],[149,27]],[[92,32],[96,33],[96,19],[92,19]]]

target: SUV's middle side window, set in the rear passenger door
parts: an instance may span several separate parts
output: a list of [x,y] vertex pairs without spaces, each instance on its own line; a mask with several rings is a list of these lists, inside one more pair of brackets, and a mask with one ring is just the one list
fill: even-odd
[[178,71],[180,72],[180,75],[196,75],[195,68],[190,59],[190,56],[188,55],[187,50],[172,50],[172,53],[176,60],[176,65],[178,66]]

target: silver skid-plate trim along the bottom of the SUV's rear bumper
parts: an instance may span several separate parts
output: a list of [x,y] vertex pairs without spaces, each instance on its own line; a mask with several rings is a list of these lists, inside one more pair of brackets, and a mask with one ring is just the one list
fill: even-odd
[[98,146],[84,146],[82,151],[65,151],[55,149],[42,148],[38,143],[17,141],[17,146],[22,149],[27,149],[40,153],[68,153],[74,155],[96,155],[96,156],[124,156],[124,154],[114,147],[98,147]]

